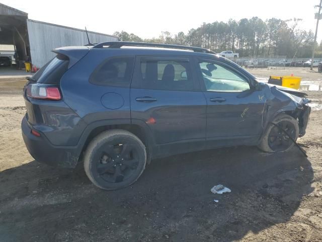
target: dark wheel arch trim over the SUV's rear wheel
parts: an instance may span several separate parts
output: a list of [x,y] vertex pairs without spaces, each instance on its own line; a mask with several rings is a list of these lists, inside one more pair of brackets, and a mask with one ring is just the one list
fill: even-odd
[[94,137],[96,137],[97,135],[101,134],[104,131],[113,130],[113,129],[127,130],[127,131],[131,132],[132,134],[134,134],[135,136],[137,136],[142,141],[142,143],[144,144],[144,146],[146,148],[146,156],[147,156],[146,162],[148,164],[150,163],[150,160],[151,160],[151,151],[150,150],[151,150],[151,148],[150,148],[148,137],[145,134],[145,131],[143,130],[143,128],[141,128],[138,125],[133,125],[133,124],[106,125],[106,126],[97,127],[94,130],[92,130],[86,139],[86,142],[85,142],[84,147],[82,149],[81,157],[79,157],[79,160],[83,158],[84,151],[86,150],[89,143],[94,139]]

